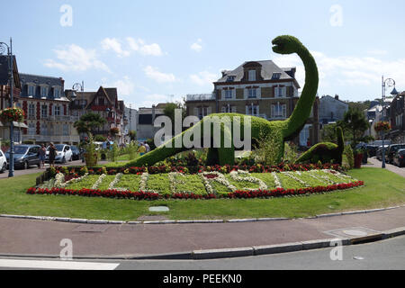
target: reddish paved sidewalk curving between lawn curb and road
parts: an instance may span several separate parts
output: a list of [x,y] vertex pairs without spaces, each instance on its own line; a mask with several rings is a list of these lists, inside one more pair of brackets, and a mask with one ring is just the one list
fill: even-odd
[[63,238],[72,240],[74,257],[142,257],[334,238],[326,233],[334,229],[404,226],[405,207],[314,219],[207,224],[92,225],[2,217],[0,255],[58,257]]

